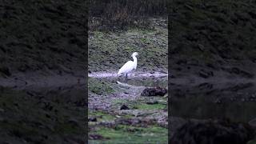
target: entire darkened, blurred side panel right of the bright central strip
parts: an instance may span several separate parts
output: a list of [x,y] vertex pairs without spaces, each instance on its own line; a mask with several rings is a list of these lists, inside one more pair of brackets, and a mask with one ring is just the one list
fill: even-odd
[[[254,123],[256,3],[250,0],[171,3],[168,18],[170,105],[172,116],[180,118],[174,122],[183,125],[182,118],[230,118],[231,123]],[[184,125],[180,131],[172,129],[173,134],[178,133],[173,140],[183,138],[173,142],[221,143],[221,138],[226,140],[224,143],[246,143],[254,138],[242,138],[239,134],[232,135],[235,133],[232,130],[221,129],[219,138],[202,138],[214,132],[212,129],[218,130],[214,125],[206,128],[207,124],[191,124]],[[196,135],[197,132],[200,134]]]

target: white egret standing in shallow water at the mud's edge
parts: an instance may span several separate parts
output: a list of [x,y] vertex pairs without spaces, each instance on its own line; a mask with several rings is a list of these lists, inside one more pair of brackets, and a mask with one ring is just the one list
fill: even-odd
[[131,57],[134,58],[134,61],[128,61],[126,64],[124,64],[121,69],[118,71],[119,74],[126,74],[126,79],[127,79],[127,74],[129,74],[132,70],[136,70],[137,67],[137,58],[136,56],[138,55],[137,52],[134,52],[134,54],[131,54]]

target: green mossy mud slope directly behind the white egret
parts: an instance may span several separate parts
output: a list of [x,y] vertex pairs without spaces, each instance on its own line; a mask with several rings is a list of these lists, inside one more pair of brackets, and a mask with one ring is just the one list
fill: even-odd
[[[138,52],[138,70],[162,68],[167,70],[168,30],[130,29],[122,33],[95,31],[90,35],[89,70],[118,70],[130,55]],[[149,61],[150,59],[150,61]]]

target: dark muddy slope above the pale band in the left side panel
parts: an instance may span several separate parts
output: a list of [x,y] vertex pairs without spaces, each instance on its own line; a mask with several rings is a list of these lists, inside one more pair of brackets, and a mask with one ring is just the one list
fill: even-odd
[[84,2],[8,1],[0,10],[0,77],[84,70]]

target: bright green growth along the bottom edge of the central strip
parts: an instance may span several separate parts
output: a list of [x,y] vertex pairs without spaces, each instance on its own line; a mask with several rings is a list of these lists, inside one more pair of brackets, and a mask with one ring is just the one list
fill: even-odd
[[104,138],[103,141],[89,141],[90,143],[167,143],[168,130],[159,126],[139,128],[119,125],[114,129],[102,127],[96,132]]

